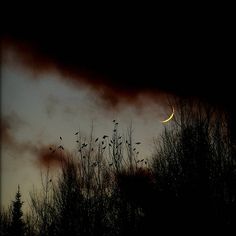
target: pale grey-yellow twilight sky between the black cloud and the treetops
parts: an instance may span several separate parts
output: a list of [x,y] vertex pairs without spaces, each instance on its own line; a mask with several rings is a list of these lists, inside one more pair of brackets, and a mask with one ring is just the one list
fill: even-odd
[[[142,96],[138,98],[145,101],[142,107],[132,103],[108,107],[93,90],[83,84],[65,82],[56,70],[41,73],[30,70],[14,50],[3,50],[1,69],[2,126],[7,124],[2,127],[3,206],[14,199],[18,184],[25,202],[33,186],[40,188],[40,171],[44,167],[38,165],[34,149],[59,144],[61,136],[63,146],[73,151],[76,131],[86,136],[93,123],[95,136],[111,135],[112,120],[116,119],[121,134],[126,134],[132,122],[134,140],[142,143],[140,157],[147,158],[152,152],[153,138],[163,129],[159,121],[171,112],[160,101],[145,100]],[[6,132],[8,136],[4,136]]]

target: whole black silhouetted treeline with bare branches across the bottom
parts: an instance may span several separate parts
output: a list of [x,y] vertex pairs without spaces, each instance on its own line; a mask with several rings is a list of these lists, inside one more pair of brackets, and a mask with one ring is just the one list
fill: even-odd
[[[1,211],[1,235],[166,235],[227,232],[236,228],[236,157],[227,114],[178,101],[178,114],[139,154],[132,127],[121,135],[84,139],[64,154],[61,172],[48,171],[30,193],[23,215],[20,189]],[[65,156],[66,155],[66,156]]]

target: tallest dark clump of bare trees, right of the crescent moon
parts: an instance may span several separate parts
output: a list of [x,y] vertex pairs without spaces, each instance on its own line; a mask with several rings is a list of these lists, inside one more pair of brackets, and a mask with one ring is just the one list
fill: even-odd
[[164,227],[226,232],[235,224],[236,162],[225,114],[191,100],[175,107],[154,154],[158,219]]

